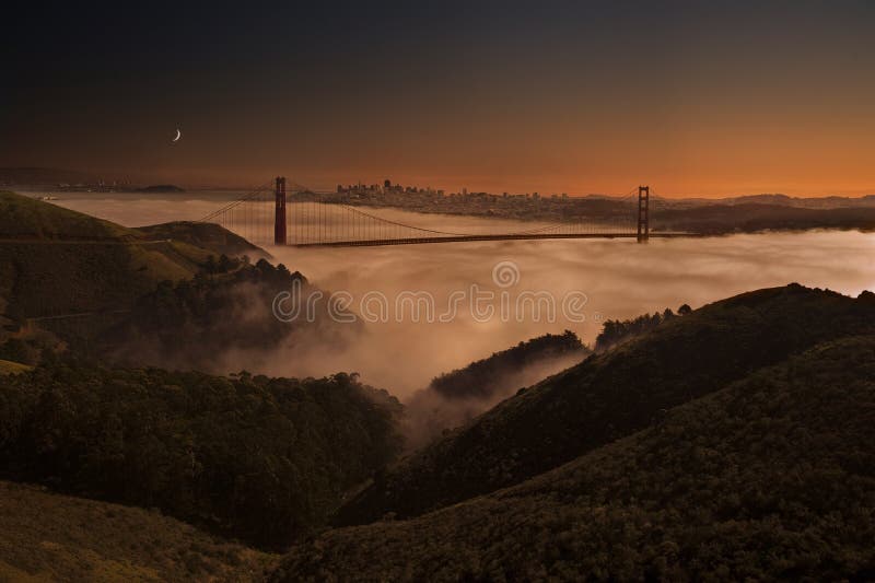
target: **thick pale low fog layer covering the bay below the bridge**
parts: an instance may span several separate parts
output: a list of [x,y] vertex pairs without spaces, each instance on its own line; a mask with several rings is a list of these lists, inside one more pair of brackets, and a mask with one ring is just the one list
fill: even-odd
[[[198,195],[200,196],[200,195]],[[96,196],[94,196],[96,197]],[[136,226],[173,220],[194,220],[226,202],[214,200],[147,198],[143,195],[65,195],[59,205]],[[443,230],[482,232],[511,224],[442,215],[377,210],[382,217]],[[517,223],[518,224],[518,223]],[[530,228],[529,224],[518,229]],[[422,388],[435,375],[458,369],[521,340],[545,333],[575,331],[592,343],[607,318],[628,318],[644,312],[693,307],[757,288],[798,283],[856,295],[875,288],[875,235],[859,232],[733,235],[698,240],[653,240],[638,245],[630,240],[481,242],[360,248],[273,248],[277,261],[304,273],[318,288],[347,291],[352,310],[369,292],[393,304],[397,294],[428,292],[438,313],[445,312],[453,292],[469,293],[471,284],[515,299],[523,291],[546,291],[557,305],[569,292],[583,292],[585,320],[569,322],[561,305],[556,322],[477,322],[465,307],[446,323],[390,322],[368,324],[361,340],[340,349],[298,341],[295,348],[261,354],[267,374],[322,376],[355,371],[365,382],[386,387],[400,397]],[[500,288],[492,270],[513,261],[520,280]],[[495,301],[498,306],[498,301]],[[270,310],[270,306],[265,306]],[[512,315],[513,316],[513,315]],[[301,340],[301,339],[299,339]],[[244,354],[228,361],[229,370],[253,369]],[[240,360],[240,362],[237,362]]]

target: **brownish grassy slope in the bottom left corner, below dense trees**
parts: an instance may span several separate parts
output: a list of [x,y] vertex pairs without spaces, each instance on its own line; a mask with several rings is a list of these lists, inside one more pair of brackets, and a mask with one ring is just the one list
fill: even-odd
[[261,581],[276,561],[145,511],[0,481],[0,581]]

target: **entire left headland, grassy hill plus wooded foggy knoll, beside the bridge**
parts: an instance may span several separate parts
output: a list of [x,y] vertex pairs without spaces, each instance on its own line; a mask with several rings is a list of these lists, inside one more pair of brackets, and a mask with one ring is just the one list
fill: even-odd
[[278,293],[312,288],[215,224],[126,229],[13,194],[0,194],[0,211],[3,360],[73,353],[224,374],[242,362],[257,370],[283,342],[340,346],[361,329],[334,322],[324,303],[313,322],[278,320]]

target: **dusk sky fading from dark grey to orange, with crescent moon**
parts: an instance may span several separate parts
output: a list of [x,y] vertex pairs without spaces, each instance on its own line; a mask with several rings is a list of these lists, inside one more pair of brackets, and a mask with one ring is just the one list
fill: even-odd
[[0,165],[875,191],[873,2],[77,4],[3,13]]

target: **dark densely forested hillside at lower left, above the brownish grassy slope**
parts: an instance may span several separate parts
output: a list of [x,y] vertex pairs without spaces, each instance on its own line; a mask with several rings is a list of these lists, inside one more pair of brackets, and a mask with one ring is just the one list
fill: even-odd
[[397,455],[399,408],[346,374],[37,368],[0,376],[0,478],[281,548]]

